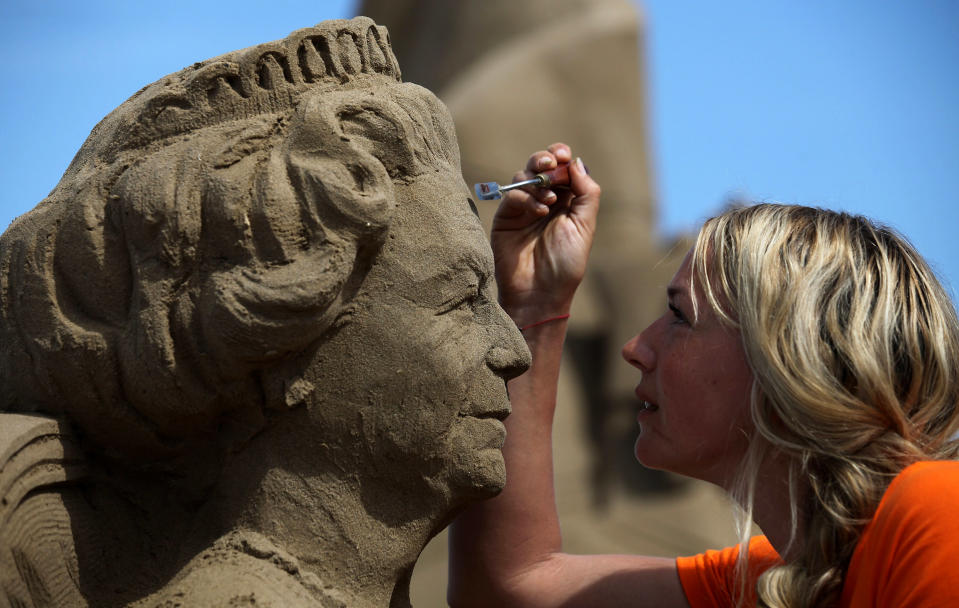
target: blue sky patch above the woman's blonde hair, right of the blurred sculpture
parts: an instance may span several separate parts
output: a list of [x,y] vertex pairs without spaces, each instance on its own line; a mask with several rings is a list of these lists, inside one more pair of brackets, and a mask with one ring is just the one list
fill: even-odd
[[903,232],[955,294],[959,2],[645,6],[665,227],[730,195],[845,209]]

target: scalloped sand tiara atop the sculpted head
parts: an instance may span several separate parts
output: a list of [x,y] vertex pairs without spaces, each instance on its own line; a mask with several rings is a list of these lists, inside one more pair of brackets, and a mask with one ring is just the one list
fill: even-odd
[[172,135],[282,111],[304,91],[365,75],[400,81],[386,29],[367,17],[325,21],[144,87],[94,128],[79,156],[112,157]]

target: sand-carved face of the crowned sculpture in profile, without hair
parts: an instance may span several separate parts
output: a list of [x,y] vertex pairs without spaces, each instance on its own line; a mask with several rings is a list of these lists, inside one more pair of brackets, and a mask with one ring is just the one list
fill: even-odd
[[377,482],[489,496],[505,483],[505,381],[529,354],[492,293],[492,254],[462,178],[423,176],[397,198],[349,323],[310,370],[323,377],[314,385],[336,387],[310,418]]

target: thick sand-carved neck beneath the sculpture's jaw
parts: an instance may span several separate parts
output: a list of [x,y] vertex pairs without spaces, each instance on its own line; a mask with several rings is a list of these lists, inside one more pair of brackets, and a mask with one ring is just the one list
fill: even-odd
[[[303,449],[288,428],[274,431],[226,464],[196,520],[198,547],[265,540],[346,605],[409,606],[413,565],[447,523],[448,503],[385,487],[392,480],[340,467],[321,446]],[[270,550],[253,553],[271,559]]]

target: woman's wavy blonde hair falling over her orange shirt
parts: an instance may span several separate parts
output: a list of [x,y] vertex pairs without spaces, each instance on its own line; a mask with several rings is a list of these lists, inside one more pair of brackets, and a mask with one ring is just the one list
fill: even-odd
[[760,605],[835,603],[893,477],[959,452],[953,303],[903,237],[824,209],[731,209],[703,226],[692,264],[693,285],[739,329],[755,377],[756,434],[734,492],[741,524],[759,463],[774,451],[790,462],[795,558],[760,577]]

